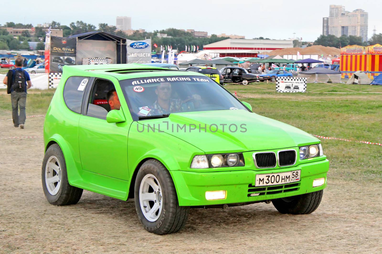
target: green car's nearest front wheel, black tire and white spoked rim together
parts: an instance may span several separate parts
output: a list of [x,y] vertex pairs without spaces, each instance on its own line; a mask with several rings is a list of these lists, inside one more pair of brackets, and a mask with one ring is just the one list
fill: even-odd
[[186,225],[190,208],[179,206],[172,177],[159,161],[147,160],[139,168],[134,199],[138,219],[148,232],[171,234]]

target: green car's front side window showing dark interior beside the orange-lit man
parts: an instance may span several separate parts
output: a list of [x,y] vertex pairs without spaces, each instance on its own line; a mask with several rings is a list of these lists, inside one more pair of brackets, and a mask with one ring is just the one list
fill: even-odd
[[[94,86],[92,88],[92,91],[90,93],[89,98],[89,104],[87,105],[87,113],[89,117],[96,117],[106,120],[107,113],[111,110],[111,107],[109,105],[108,99],[114,99],[118,100],[117,98],[114,98],[116,96],[115,87],[113,83],[110,80],[104,80],[104,79],[97,79],[94,82]],[[110,93],[109,93],[110,92]],[[108,98],[109,94],[109,98]],[[119,103],[119,101],[118,101]],[[115,105],[113,105],[115,106]],[[120,104],[117,105],[118,109],[120,107]],[[117,108],[114,108],[117,109]]]

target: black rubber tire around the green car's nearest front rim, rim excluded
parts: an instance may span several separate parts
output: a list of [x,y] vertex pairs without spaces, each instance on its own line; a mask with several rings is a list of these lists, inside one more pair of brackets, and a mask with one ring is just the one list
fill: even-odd
[[[155,176],[162,188],[162,212],[157,220],[151,222],[144,216],[139,203],[139,188],[147,174]],[[175,185],[168,170],[157,160],[147,160],[139,168],[134,185],[135,209],[143,227],[151,233],[166,235],[181,230],[188,220],[189,206],[179,206]]]

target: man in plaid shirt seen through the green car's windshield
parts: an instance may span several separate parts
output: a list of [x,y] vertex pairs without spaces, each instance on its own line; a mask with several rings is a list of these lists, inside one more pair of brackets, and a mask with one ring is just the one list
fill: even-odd
[[182,101],[181,99],[170,99],[172,93],[170,82],[161,82],[157,89],[155,89],[155,94],[157,94],[157,100],[150,107],[150,115],[162,115],[168,113],[174,113],[180,111],[182,103],[188,102],[192,99],[200,100],[201,96],[199,94],[193,94],[190,98]]

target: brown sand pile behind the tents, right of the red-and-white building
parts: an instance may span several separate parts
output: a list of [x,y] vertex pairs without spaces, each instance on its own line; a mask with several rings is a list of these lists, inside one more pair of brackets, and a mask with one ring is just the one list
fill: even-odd
[[321,45],[313,45],[310,47],[306,48],[284,48],[282,50],[272,50],[270,52],[261,52],[260,54],[267,54],[269,56],[275,56],[275,55],[296,55],[297,51],[302,54],[302,55],[321,55],[323,54],[324,56],[334,56],[340,55],[340,49],[339,48],[334,48],[334,47],[325,47]]

